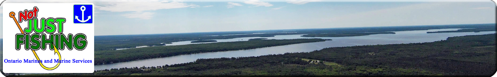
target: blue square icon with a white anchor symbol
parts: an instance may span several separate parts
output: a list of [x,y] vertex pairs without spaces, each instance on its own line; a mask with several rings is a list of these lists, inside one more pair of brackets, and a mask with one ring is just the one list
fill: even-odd
[[93,5],[75,4],[74,23],[93,23]]

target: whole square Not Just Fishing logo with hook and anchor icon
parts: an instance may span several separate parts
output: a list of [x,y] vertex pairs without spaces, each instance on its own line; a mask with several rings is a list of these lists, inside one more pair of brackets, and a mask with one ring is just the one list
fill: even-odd
[[[93,72],[92,4],[2,5],[4,73]],[[78,6],[79,13],[72,15],[71,6]]]

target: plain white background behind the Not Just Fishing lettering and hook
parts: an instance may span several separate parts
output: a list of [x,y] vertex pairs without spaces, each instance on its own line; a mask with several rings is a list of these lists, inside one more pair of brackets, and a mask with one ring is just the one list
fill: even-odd
[[[3,60],[36,60],[31,50],[25,50],[21,45],[20,50],[15,50],[15,34],[21,34],[14,20],[9,17],[9,12],[15,12],[16,21],[19,11],[24,9],[32,10],[34,6],[39,9],[38,12],[38,25],[40,25],[41,18],[66,18],[64,23],[64,35],[83,33],[86,35],[87,46],[84,50],[59,50],[62,59],[71,60],[71,63],[61,63],[55,70],[45,70],[39,63],[3,63],[4,73],[93,73],[94,62],[94,23],[92,24],[74,24],[73,5],[74,4],[93,4],[93,3],[3,3]],[[93,10],[94,11],[94,10]],[[93,13],[94,15],[94,13]],[[94,18],[94,17],[93,17]],[[19,23],[22,29],[27,28],[28,22],[23,21]],[[56,24],[56,27],[59,25]],[[56,31],[59,29],[57,28]],[[33,34],[33,33],[31,33]],[[46,33],[43,33],[46,34]],[[55,32],[54,34],[58,34]],[[76,44],[76,43],[75,43]],[[50,50],[47,45],[46,50],[35,50],[40,60],[58,59],[58,55],[54,55],[54,50]],[[73,59],[76,60],[92,60],[92,63],[72,63]],[[43,63],[44,66],[51,68],[57,63]]]

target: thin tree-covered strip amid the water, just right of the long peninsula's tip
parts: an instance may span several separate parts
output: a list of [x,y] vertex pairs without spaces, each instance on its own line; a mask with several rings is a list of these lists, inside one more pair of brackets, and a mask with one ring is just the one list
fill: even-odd
[[395,34],[394,32],[377,32],[377,33],[336,33],[336,34],[308,34],[301,37],[353,37],[353,36],[367,36],[375,34]]

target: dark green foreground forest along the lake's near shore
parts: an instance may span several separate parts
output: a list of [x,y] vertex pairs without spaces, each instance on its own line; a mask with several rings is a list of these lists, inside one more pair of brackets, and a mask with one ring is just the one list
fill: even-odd
[[[309,63],[306,60],[323,63]],[[327,63],[332,62],[332,63]],[[335,64],[334,64],[335,63]],[[157,67],[25,76],[492,76],[496,34],[425,43],[331,47],[258,57],[197,59]]]

